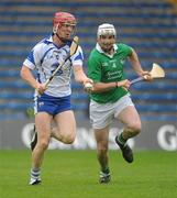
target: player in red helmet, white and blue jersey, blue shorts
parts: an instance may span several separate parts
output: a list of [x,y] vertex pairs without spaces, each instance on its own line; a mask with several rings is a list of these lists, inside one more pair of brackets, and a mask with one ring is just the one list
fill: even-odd
[[[76,19],[67,12],[56,12],[53,20],[53,34],[37,43],[23,63],[21,77],[40,95],[34,97],[35,133],[31,142],[32,168],[30,185],[41,183],[41,166],[44,152],[51,138],[71,144],[76,138],[76,121],[70,105],[70,76],[86,85],[91,82],[82,69],[82,51],[77,52],[58,70],[45,88],[45,81],[69,54],[71,35],[76,28]],[[36,69],[37,79],[32,70]],[[52,122],[56,123],[52,128]]]

